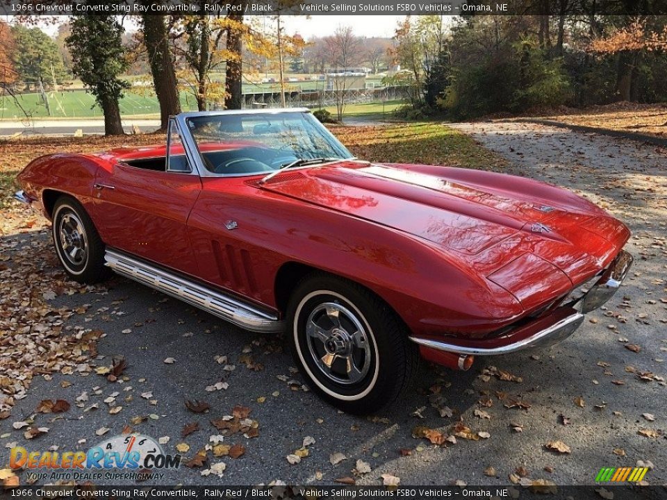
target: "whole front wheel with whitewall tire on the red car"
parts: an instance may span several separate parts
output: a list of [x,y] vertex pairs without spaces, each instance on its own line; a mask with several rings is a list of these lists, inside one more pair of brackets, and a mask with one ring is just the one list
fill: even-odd
[[402,320],[379,297],[343,278],[313,274],[288,306],[295,362],[334,406],[370,413],[409,385],[418,354]]

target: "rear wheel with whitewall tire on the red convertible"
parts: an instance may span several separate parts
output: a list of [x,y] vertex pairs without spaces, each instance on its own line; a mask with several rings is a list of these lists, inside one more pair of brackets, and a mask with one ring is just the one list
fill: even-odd
[[81,203],[62,196],[53,206],[53,244],[60,264],[79,283],[97,283],[110,276],[104,266],[104,243]]

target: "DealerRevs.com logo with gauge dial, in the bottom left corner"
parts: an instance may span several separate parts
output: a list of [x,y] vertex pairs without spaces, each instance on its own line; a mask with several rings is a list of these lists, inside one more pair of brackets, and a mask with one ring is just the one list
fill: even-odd
[[110,437],[88,451],[28,451],[24,447],[10,451],[10,467],[25,468],[38,479],[141,479],[156,477],[155,469],[180,465],[181,455],[165,453],[156,440],[141,434]]

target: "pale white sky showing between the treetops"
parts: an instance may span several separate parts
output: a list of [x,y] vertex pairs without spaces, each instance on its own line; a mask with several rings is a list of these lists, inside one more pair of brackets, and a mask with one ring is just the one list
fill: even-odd
[[[5,16],[6,21],[11,22],[10,16]],[[354,34],[362,37],[386,37],[394,35],[397,23],[405,16],[393,15],[313,15],[309,18],[305,16],[283,16],[286,30],[288,33],[299,33],[308,40],[313,36],[331,35],[338,26],[351,26]],[[0,17],[1,19],[1,17]],[[67,19],[63,17],[63,21]],[[57,26],[42,24],[38,25],[43,31],[53,36],[58,31]],[[127,29],[133,29],[133,26],[126,26]]]

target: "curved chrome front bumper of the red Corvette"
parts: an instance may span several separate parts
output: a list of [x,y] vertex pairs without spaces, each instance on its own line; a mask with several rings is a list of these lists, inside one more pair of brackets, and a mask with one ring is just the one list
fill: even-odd
[[523,349],[551,347],[575,333],[584,322],[584,313],[599,308],[614,296],[627,276],[632,260],[632,255],[621,250],[583,297],[555,309],[549,315],[513,328],[500,337],[481,340],[451,339],[450,342],[415,337],[410,340],[426,349],[473,356],[493,356]]

